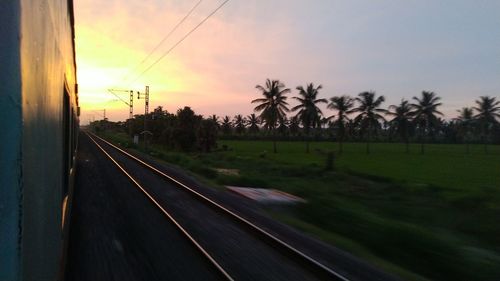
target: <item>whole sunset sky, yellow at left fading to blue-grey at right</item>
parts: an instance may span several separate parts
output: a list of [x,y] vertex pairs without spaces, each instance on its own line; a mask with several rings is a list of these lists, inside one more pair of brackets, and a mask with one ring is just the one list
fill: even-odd
[[[199,1],[75,1],[82,124],[103,109],[125,120],[128,106],[107,89],[146,85],[151,110],[190,106],[204,116],[253,113],[255,86],[267,78],[292,89],[289,97],[311,82],[327,99],[375,91],[384,107],[434,91],[448,119],[479,96],[500,99],[497,0],[230,0],[167,54],[223,2],[203,0],[141,64]],[[144,100],[134,105],[144,113]]]

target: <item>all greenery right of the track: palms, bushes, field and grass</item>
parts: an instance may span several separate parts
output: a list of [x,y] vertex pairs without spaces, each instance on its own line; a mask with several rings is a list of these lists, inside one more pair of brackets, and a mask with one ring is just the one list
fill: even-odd
[[[496,97],[480,96],[445,120],[432,91],[384,106],[384,96],[373,91],[324,99],[313,83],[297,86],[291,99],[279,80],[256,89],[248,116],[158,107],[90,127],[215,188],[300,196],[306,203],[263,209],[404,280],[500,280]],[[133,144],[144,118],[149,134],[143,136],[150,137]],[[228,169],[233,172],[221,172]]]

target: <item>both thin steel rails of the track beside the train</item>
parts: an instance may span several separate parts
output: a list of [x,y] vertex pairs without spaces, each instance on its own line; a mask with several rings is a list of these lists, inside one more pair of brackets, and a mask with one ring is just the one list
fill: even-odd
[[[173,218],[172,215],[170,215],[140,184],[137,180],[135,180],[127,171],[109,154],[106,152],[104,148],[102,148],[101,145],[98,144],[98,142],[95,139],[98,139],[99,141],[104,142],[106,145],[112,147],[116,151],[119,151],[120,153],[126,155],[128,158],[132,159],[133,161],[139,163],[143,167],[147,168],[148,170],[154,172],[155,174],[163,177],[164,179],[168,180],[171,183],[174,183],[176,186],[184,190],[185,192],[188,192],[192,197],[195,199],[199,200],[200,202],[208,205],[209,207],[213,208],[214,210],[226,215],[230,219],[238,222],[240,225],[243,225],[246,227],[246,229],[250,230],[250,232],[257,236],[258,238],[264,240],[267,242],[267,244],[273,246],[280,252],[286,254],[289,258],[294,259],[301,264],[305,265],[307,269],[315,274],[316,276],[320,277],[321,279],[325,280],[341,280],[341,281],[348,281],[349,279],[343,275],[341,275],[338,272],[335,272],[334,270],[330,269],[329,267],[325,266],[324,264],[320,263],[319,261],[315,260],[314,258],[308,256],[307,254],[297,250],[293,246],[289,245],[288,243],[284,242],[283,240],[277,238],[276,236],[272,235],[271,233],[267,232],[266,230],[262,229],[261,227],[255,225],[254,223],[250,222],[249,220],[241,217],[240,215],[236,214],[235,212],[229,210],[228,208],[220,205],[219,203],[213,201],[212,199],[206,197],[205,195],[199,193],[198,191],[194,190],[193,188],[183,184],[182,182],[178,181],[177,179],[173,178],[170,175],[167,175],[166,173],[160,171],[159,169],[151,166],[150,164],[142,161],[141,159],[131,155],[130,153],[124,151],[123,149],[113,145],[112,143],[106,141],[105,139],[102,139],[94,134],[87,133],[87,135],[90,137],[90,139],[99,147],[100,150],[103,151],[103,153],[110,158],[113,163],[118,166],[118,168],[127,175],[127,177],[153,202],[154,205],[156,205],[158,208],[161,209],[161,211],[168,217],[168,219],[176,225],[176,227],[195,245],[195,247],[215,266],[217,271],[226,279],[226,280],[234,280],[233,277],[231,277],[226,270],[222,268],[222,266]],[[95,139],[94,139],[95,138]]]

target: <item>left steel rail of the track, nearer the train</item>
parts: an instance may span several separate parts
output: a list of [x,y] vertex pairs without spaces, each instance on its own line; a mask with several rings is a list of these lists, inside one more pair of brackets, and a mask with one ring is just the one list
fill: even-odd
[[[220,273],[226,280],[229,281],[234,281],[234,278],[229,275],[224,268],[182,227],[179,222],[177,222],[174,217],[168,213],[159,203],[156,201],[153,196],[151,196],[145,189],[144,187],[141,186],[139,182],[137,182],[111,155],[109,155],[108,152],[102,146],[100,146],[93,138],[90,136],[89,133],[85,132],[87,136],[94,142],[94,144],[132,181],[139,190],[146,195],[146,197],[153,202],[156,207],[158,207],[161,212],[177,227],[178,230],[184,234],[186,238],[200,251],[202,254],[210,261],[210,263],[217,269],[218,273]],[[96,135],[93,135],[97,137]],[[99,138],[99,137],[97,137]],[[101,138],[99,138],[101,139]]]

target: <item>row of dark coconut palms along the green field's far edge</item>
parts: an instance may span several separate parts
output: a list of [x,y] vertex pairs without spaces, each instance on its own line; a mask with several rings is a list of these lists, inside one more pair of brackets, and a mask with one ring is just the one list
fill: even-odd
[[[432,91],[422,91],[420,96],[411,100],[402,99],[399,104],[383,108],[384,96],[377,96],[373,91],[359,93],[356,97],[348,95],[320,98],[322,86],[309,83],[306,87],[296,87],[297,96],[291,97],[298,105],[290,107],[287,98],[291,90],[279,80],[267,79],[264,86],[257,85],[262,97],[252,100],[256,104],[254,111],[244,118],[236,115],[232,120],[225,116],[218,123],[224,137],[244,135],[255,136],[259,129],[261,135],[270,135],[276,140],[312,139],[335,140],[338,152],[343,151],[344,141],[365,141],[366,152],[370,153],[373,141],[404,142],[409,152],[411,141],[420,143],[420,152],[424,153],[426,143],[464,143],[469,152],[470,143],[483,143],[487,151],[488,143],[500,143],[500,101],[495,97],[481,96],[473,107],[458,110],[458,116],[444,120],[439,111],[441,98]],[[318,107],[326,104],[333,111],[327,116]],[[287,113],[291,113],[288,116]]]

